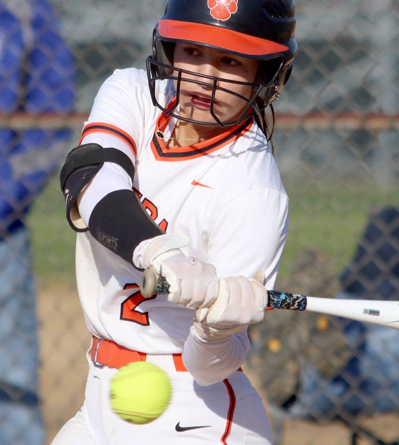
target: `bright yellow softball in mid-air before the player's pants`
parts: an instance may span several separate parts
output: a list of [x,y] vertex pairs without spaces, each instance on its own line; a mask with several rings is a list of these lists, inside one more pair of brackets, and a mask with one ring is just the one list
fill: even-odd
[[166,410],[172,385],[159,366],[133,362],[121,368],[111,379],[111,407],[122,419],[133,424],[148,424]]

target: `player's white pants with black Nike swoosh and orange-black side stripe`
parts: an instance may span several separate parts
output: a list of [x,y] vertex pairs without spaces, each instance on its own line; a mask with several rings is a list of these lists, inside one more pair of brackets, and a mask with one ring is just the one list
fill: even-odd
[[[200,386],[190,373],[175,370],[172,356],[148,355],[147,360],[167,371],[173,384],[171,403],[161,417],[146,425],[119,418],[109,404],[109,381],[117,370],[91,363],[82,410],[62,427],[52,445],[272,444],[262,401],[243,372]],[[205,428],[177,431],[177,424],[183,429]]]

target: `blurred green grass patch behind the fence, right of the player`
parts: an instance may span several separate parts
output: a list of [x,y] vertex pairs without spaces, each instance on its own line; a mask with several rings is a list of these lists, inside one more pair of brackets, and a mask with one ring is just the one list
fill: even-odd
[[366,185],[287,187],[290,228],[279,275],[287,278],[294,261],[307,249],[329,258],[335,274],[351,260],[372,212],[398,206],[393,190]]

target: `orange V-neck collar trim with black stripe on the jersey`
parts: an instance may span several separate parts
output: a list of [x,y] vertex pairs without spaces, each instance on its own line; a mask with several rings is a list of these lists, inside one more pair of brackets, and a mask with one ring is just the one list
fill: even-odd
[[[176,98],[169,104],[168,109],[173,106]],[[253,117],[244,121],[241,124],[232,125],[228,127],[226,131],[215,136],[214,138],[207,139],[206,141],[198,144],[189,145],[185,147],[172,147],[167,148],[163,139],[157,137],[157,133],[160,128],[165,128],[168,122],[168,116],[162,113],[158,118],[154,136],[151,141],[151,150],[157,161],[187,161],[189,159],[196,159],[200,156],[206,156],[209,153],[213,153],[216,150],[224,147],[231,142],[236,141],[239,137],[244,135],[253,124]]]

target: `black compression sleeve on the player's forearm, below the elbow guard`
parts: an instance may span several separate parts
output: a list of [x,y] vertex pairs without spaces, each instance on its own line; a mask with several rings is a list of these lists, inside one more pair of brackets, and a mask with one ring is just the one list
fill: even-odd
[[133,264],[133,251],[141,241],[165,233],[130,190],[105,196],[90,215],[89,231],[98,242],[130,264]]

